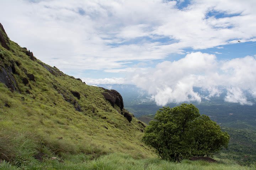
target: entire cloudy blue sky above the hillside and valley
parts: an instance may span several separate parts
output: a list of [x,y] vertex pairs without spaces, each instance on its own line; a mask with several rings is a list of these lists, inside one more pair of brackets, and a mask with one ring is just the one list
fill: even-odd
[[89,85],[134,84],[161,106],[256,103],[255,0],[0,2],[11,40]]

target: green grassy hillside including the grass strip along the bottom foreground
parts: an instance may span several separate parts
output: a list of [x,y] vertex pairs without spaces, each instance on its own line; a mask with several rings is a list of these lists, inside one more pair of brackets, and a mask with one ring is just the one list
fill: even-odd
[[124,117],[106,90],[42,63],[0,33],[0,170],[255,168],[160,160],[140,141],[144,124]]

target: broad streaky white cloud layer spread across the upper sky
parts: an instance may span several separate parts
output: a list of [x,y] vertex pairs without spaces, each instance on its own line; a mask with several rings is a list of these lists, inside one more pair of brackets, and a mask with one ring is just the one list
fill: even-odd
[[256,1],[194,0],[181,10],[180,2],[3,0],[0,19],[12,40],[63,71],[122,68],[185,48],[255,41]]

